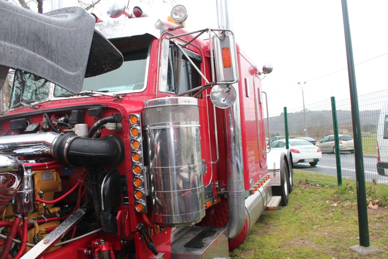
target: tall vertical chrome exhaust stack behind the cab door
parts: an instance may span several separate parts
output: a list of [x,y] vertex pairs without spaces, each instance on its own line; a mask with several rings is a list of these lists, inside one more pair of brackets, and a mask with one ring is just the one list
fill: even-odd
[[[232,29],[230,1],[217,0],[218,28]],[[242,137],[239,88],[235,84],[237,100],[225,111],[226,121],[226,175],[227,175],[227,206],[228,206],[228,238],[236,238],[245,224],[244,173],[242,165]],[[233,209],[231,209],[233,208]]]

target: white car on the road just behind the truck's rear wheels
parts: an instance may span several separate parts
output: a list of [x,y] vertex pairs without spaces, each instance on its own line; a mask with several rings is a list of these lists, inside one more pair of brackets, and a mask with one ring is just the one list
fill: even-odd
[[[307,140],[291,138],[289,139],[289,145],[292,153],[292,162],[294,164],[308,162],[310,166],[316,166],[319,160],[322,159],[321,149]],[[286,139],[271,143],[271,150],[281,149],[286,149]]]

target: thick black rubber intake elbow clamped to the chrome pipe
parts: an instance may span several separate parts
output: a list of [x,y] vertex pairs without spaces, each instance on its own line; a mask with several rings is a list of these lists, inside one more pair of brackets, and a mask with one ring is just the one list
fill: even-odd
[[124,160],[124,143],[114,135],[84,138],[67,133],[51,146],[51,155],[65,165],[83,167],[118,166]]

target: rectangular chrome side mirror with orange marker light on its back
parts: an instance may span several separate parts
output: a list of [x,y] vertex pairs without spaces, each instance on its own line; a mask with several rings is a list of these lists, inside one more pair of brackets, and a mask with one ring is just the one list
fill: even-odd
[[239,81],[236,43],[232,34],[213,36],[215,69],[218,83],[230,85]]

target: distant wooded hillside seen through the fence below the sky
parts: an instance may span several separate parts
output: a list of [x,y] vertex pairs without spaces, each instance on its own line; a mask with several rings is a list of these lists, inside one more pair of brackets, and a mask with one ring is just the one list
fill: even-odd
[[[380,110],[366,110],[360,112],[362,134],[368,136],[376,133]],[[351,111],[337,111],[339,134],[353,135]],[[333,119],[331,110],[306,111],[307,135],[311,138],[321,139],[324,136],[333,134]],[[267,121],[265,120],[267,130]],[[284,114],[270,117],[270,134],[272,136],[285,135]],[[305,122],[303,111],[288,113],[288,128],[290,137],[305,136]]]

